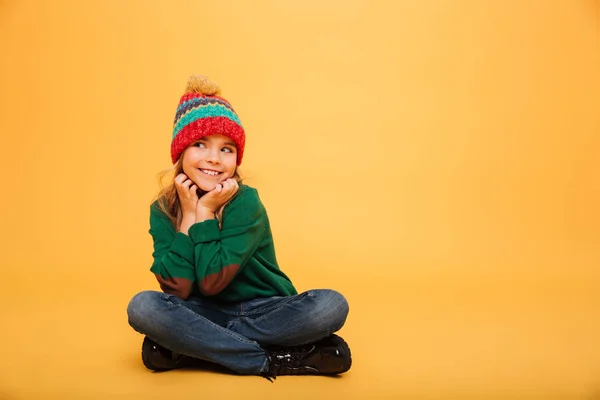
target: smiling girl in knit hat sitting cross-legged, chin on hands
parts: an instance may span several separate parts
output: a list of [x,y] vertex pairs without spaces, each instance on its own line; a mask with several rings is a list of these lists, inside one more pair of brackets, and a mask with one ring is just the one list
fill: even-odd
[[333,333],[348,303],[333,290],[298,294],[279,269],[267,212],[241,183],[245,132],[219,87],[190,77],[175,115],[173,183],[150,206],[162,292],[135,295],[129,324],[155,371],[219,364],[268,379],[340,374],[350,349]]

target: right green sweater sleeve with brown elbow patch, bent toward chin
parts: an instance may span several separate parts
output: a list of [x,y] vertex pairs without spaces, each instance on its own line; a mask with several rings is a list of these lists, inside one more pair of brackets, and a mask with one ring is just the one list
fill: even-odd
[[[242,188],[240,188],[242,189]],[[256,189],[248,186],[223,210],[222,229],[216,219],[192,225],[198,288],[205,296],[220,293],[244,268],[267,229],[267,215]]]

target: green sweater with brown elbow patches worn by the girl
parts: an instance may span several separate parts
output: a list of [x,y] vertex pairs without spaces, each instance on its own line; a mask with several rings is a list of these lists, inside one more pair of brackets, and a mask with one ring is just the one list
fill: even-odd
[[210,219],[177,232],[169,218],[150,206],[154,241],[152,271],[165,293],[237,302],[297,294],[279,269],[269,218],[256,189],[240,184],[219,221]]

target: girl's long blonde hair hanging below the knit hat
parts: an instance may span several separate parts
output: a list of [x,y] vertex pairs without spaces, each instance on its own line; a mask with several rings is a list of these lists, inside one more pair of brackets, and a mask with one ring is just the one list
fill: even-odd
[[[182,160],[183,154],[181,155],[181,157],[179,157],[177,162],[172,167],[162,170],[158,173],[157,179],[160,191],[158,192],[158,195],[153,199],[153,203],[154,201],[157,201],[159,210],[162,211],[167,217],[169,217],[169,220],[171,221],[171,224],[173,225],[173,228],[175,228],[175,230],[179,228],[179,224],[181,224],[182,219],[179,196],[177,195],[177,187],[175,186],[175,177],[183,173]],[[166,186],[164,186],[165,178],[168,178],[169,181],[169,183]],[[235,169],[232,178],[238,181],[238,183],[242,183],[242,177],[240,176],[239,168]],[[206,193],[207,192],[198,188],[198,197],[202,197]],[[223,207],[221,207],[221,209],[215,213],[219,220],[221,219],[220,216],[222,211]]]

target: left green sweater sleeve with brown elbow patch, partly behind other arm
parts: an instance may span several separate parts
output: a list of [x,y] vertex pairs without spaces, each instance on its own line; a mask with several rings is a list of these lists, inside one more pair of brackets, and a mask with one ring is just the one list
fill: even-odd
[[187,299],[195,280],[194,246],[189,236],[176,232],[155,204],[150,207],[150,235],[154,242],[150,271],[163,292]]

